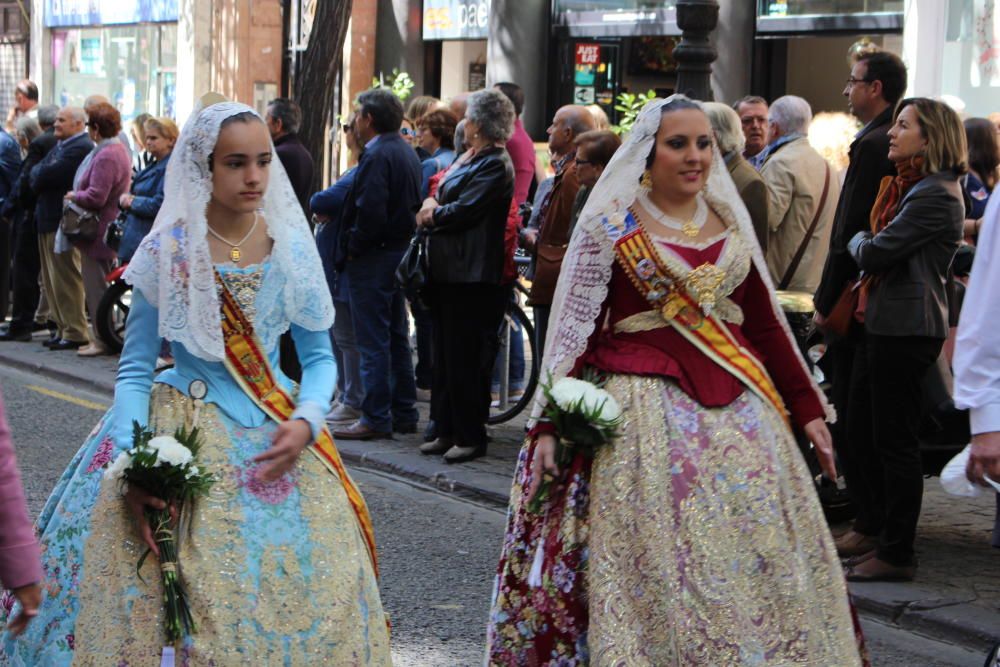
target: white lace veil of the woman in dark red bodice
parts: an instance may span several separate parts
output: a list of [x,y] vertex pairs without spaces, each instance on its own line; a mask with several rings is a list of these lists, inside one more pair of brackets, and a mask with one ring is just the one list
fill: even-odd
[[[546,381],[550,373],[553,382],[565,377],[586,351],[587,342],[594,329],[603,324],[597,319],[611,281],[611,269],[615,262],[615,239],[608,236],[602,221],[616,214],[625,215],[628,207],[642,192],[639,180],[646,170],[646,158],[653,149],[656,132],[660,127],[662,109],[674,100],[688,100],[688,98],[683,95],[672,95],[667,99],[652,100],[643,107],[631,132],[611,158],[580,213],[579,222],[563,259],[552,300],[541,371],[541,377]],[[714,153],[708,182],[702,190],[705,200],[726,226],[739,230],[743,240],[751,247],[754,266],[757,267],[757,272],[771,295],[771,307],[781,322],[785,335],[791,341],[799,363],[812,379],[812,374],[808,371],[778,304],[764,254],[761,252],[753,223],[750,221],[750,214],[729,176],[729,170],[717,146]],[[753,317],[753,313],[748,313],[747,316]],[[812,381],[812,385],[826,411],[827,419],[834,421],[836,414],[832,406],[815,381]],[[541,417],[544,400],[544,395],[539,389],[535,393],[529,426],[533,426]]]

